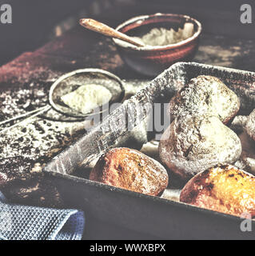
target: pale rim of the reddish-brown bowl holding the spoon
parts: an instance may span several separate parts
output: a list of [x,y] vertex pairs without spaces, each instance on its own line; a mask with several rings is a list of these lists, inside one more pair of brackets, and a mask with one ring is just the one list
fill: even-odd
[[122,40],[117,39],[117,38],[112,38],[114,43],[122,48],[129,49],[129,50],[137,50],[137,51],[151,51],[151,50],[170,50],[174,48],[178,48],[180,46],[184,46],[185,44],[194,41],[201,35],[201,22],[198,22],[197,19],[192,18],[188,15],[185,14],[162,14],[162,13],[157,13],[157,14],[150,14],[150,15],[140,15],[136,16],[133,18],[129,18],[126,22],[123,22],[122,24],[118,25],[116,30],[122,29],[124,26],[127,26],[129,24],[132,24],[134,22],[138,22],[140,20],[145,20],[148,18],[154,18],[157,16],[167,16],[167,17],[175,17],[175,18],[185,18],[186,20],[192,21],[193,23],[197,24],[197,31],[189,38],[186,38],[185,40],[182,40],[180,42],[176,42],[173,44],[165,45],[165,46],[144,46],[144,47],[139,47],[139,46],[132,46],[131,44],[128,44],[126,42],[122,43]]

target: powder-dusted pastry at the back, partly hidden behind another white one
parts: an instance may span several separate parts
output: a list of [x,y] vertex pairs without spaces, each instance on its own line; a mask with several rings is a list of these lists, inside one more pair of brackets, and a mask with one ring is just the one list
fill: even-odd
[[200,75],[193,78],[170,100],[168,114],[171,122],[185,111],[200,111],[216,115],[228,123],[238,112],[240,100],[220,79]]

